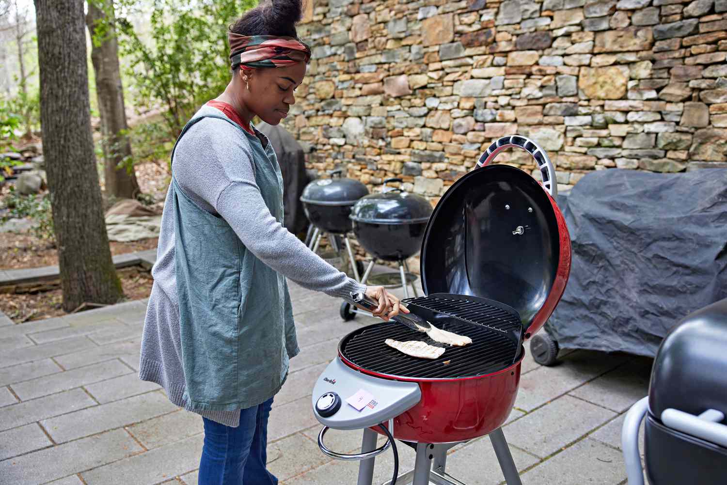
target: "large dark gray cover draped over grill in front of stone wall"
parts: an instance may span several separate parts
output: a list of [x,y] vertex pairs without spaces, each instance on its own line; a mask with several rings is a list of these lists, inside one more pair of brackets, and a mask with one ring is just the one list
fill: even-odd
[[546,326],[561,348],[655,356],[684,316],[727,297],[727,170],[592,172],[558,206],[571,276]]

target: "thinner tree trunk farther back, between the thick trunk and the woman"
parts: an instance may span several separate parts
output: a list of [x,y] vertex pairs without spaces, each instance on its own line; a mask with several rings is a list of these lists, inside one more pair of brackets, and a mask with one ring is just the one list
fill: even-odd
[[[88,2],[89,12],[86,24],[93,39],[97,33],[97,21],[106,16],[92,1]],[[103,42],[97,46],[92,42],[91,61],[96,73],[96,96],[98,111],[101,114],[101,134],[103,135],[104,180],[106,193],[116,197],[134,199],[139,193],[139,184],[132,167],[131,172],[126,167],[119,167],[125,157],[131,157],[132,145],[125,133],[126,111],[124,111],[124,89],[121,87],[121,74],[119,73],[119,42],[116,39],[116,30],[113,28],[113,5],[111,0],[104,0],[104,8],[110,12],[111,24],[108,31],[103,34]]]

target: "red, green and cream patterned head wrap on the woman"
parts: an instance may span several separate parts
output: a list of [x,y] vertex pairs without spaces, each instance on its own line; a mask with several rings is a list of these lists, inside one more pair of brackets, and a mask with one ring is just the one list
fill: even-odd
[[246,68],[278,68],[310,61],[310,47],[294,37],[243,36],[229,32],[230,63]]

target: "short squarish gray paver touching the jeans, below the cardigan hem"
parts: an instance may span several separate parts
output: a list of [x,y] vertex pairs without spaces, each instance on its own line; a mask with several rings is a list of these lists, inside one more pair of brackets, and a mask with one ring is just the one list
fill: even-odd
[[126,430],[146,448],[152,449],[204,433],[204,425],[199,414],[180,409],[128,426]]

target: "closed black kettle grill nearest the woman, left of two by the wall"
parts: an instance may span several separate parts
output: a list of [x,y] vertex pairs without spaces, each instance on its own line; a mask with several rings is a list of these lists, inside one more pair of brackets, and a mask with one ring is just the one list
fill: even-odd
[[303,189],[302,196],[300,196],[303,211],[305,217],[308,217],[310,223],[315,227],[310,241],[308,241],[308,247],[313,249],[313,252],[318,251],[318,244],[324,233],[333,235],[331,239],[334,243],[337,236],[342,236],[353,275],[360,281],[361,276],[359,276],[351,243],[348,240],[348,233],[352,228],[349,215],[353,204],[368,194],[369,189],[358,180],[341,177],[341,173],[342,169],[332,170],[329,172],[331,178],[313,180]]

